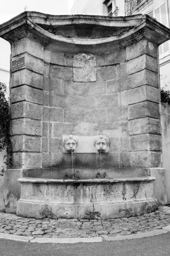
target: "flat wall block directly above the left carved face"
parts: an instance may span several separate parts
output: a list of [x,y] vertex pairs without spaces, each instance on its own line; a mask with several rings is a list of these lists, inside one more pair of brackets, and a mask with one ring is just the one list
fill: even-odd
[[72,134],[74,125],[70,123],[55,123],[53,135],[54,137],[61,137],[64,134]]

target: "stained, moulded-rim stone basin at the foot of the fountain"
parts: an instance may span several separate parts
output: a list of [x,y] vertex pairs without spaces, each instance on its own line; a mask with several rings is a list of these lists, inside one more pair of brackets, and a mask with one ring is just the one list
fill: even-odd
[[17,214],[24,217],[113,219],[152,212],[154,177],[118,179],[20,178]]

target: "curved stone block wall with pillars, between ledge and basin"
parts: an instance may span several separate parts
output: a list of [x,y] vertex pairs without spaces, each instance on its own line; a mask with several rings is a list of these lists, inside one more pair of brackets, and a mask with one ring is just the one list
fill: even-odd
[[[102,167],[161,167],[157,46],[146,39],[114,51],[62,52],[17,40],[12,60],[13,168],[71,167],[62,136],[109,137]],[[100,167],[96,153],[74,154],[75,167]]]

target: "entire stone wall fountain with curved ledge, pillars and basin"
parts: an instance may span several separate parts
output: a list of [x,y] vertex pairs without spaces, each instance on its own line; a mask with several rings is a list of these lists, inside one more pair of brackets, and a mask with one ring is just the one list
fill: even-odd
[[147,15],[24,12],[0,36],[11,44],[6,210],[112,219],[166,204],[158,47],[170,30]]

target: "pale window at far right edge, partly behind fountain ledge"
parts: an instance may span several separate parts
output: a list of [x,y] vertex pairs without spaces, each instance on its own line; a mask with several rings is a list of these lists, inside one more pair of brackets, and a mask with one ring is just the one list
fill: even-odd
[[[159,21],[161,24],[165,25],[166,27],[169,27],[168,25],[168,15],[167,15],[167,7],[165,3],[163,3],[161,6],[159,6],[157,9],[154,10],[154,16],[157,21]],[[169,51],[169,41],[161,44],[159,47],[159,55],[165,54],[165,52]]]

